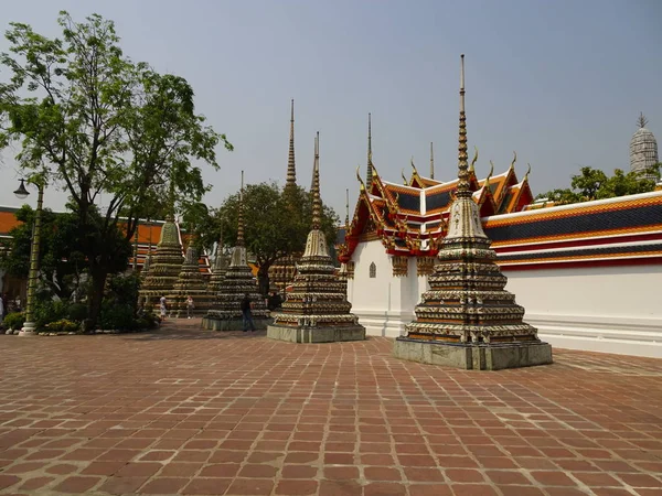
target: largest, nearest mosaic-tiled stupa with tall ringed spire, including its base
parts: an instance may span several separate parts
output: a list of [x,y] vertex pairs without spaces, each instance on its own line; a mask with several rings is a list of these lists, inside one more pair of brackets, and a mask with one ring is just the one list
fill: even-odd
[[466,369],[496,370],[552,363],[552,346],[522,321],[524,309],[505,291],[469,185],[465,115],[465,56],[460,77],[458,188],[448,234],[429,276],[430,290],[416,306],[406,336],[395,341],[398,358]]

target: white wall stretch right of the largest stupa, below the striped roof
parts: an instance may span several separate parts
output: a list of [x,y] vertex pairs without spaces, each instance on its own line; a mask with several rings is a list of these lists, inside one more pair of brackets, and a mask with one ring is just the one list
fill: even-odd
[[505,270],[541,339],[559,348],[662,358],[662,266]]

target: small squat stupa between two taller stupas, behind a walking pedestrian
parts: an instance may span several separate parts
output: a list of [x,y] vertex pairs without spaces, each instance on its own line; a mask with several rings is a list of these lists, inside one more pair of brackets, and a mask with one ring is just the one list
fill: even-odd
[[186,248],[184,263],[181,266],[178,280],[172,291],[166,296],[172,316],[186,316],[188,296],[193,299],[194,308],[191,312],[192,316],[206,314],[214,303],[214,295],[209,293],[207,282],[200,272],[197,249],[193,246]]

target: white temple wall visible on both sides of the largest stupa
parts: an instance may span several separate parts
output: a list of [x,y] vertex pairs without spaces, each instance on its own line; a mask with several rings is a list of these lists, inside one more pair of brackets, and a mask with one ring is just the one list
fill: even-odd
[[[373,336],[397,337],[415,317],[428,289],[427,277],[393,277],[391,258],[380,241],[362,242],[352,256],[349,280],[352,312]],[[370,278],[375,262],[376,277]],[[526,310],[525,321],[540,337],[559,348],[662,358],[662,266],[505,270],[506,290]]]

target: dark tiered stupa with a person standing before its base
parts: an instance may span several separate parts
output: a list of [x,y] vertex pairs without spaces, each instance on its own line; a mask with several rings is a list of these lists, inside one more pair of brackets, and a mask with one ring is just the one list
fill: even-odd
[[202,319],[202,327],[209,331],[242,331],[243,319],[241,303],[248,294],[253,304],[253,323],[257,331],[265,330],[269,311],[265,299],[257,290],[257,282],[248,266],[244,246],[244,172],[242,171],[242,194],[239,200],[237,244],[232,250],[229,267],[220,284],[215,303]]

